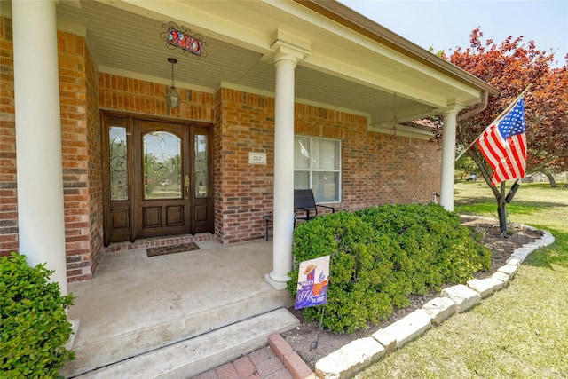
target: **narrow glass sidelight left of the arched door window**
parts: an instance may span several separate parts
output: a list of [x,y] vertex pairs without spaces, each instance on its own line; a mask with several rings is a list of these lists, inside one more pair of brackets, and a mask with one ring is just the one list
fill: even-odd
[[110,138],[110,200],[128,200],[128,164],[126,128],[111,126]]

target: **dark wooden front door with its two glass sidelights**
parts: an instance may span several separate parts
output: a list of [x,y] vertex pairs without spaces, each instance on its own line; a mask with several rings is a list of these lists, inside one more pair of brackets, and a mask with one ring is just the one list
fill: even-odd
[[101,119],[105,244],[212,233],[209,126]]

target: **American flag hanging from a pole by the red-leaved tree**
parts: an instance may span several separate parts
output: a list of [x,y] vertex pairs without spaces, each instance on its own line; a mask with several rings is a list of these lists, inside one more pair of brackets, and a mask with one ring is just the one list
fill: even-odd
[[525,104],[518,99],[500,120],[493,122],[477,139],[477,146],[493,169],[491,185],[507,179],[525,177],[526,138]]

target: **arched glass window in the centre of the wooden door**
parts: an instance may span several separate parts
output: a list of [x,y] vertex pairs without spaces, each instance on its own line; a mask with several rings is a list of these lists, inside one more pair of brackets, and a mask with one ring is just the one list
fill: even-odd
[[166,131],[144,136],[144,199],[181,199],[181,138]]

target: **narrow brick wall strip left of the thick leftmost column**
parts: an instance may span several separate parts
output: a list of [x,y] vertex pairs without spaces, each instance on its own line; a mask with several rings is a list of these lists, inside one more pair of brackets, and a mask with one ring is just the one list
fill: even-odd
[[12,20],[0,18],[0,257],[18,249]]

